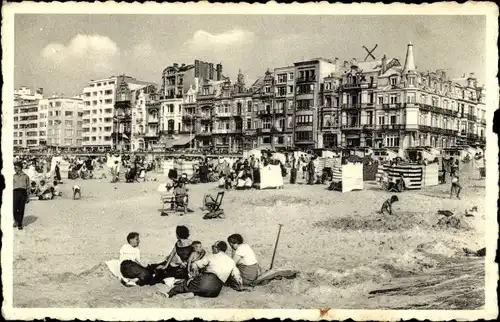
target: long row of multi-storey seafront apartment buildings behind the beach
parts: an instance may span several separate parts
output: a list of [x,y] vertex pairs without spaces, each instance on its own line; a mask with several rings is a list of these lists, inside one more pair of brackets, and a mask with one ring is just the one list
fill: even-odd
[[[485,143],[484,86],[473,74],[450,79],[444,70],[418,71],[412,44],[403,63],[385,56],[364,62],[317,58],[267,70],[249,86],[241,72],[231,82],[221,64],[196,60],[165,68],[160,88],[117,76],[89,82],[83,97],[73,100],[81,103],[75,104],[82,135],[71,142],[88,147],[239,151]],[[43,115],[55,108],[41,105],[36,112]],[[58,117],[66,130],[67,120]],[[37,144],[42,133],[48,145],[69,143],[61,131],[49,137],[38,128]]]

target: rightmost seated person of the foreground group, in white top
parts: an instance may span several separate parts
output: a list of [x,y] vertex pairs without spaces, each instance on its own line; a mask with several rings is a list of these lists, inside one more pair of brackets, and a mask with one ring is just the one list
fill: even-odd
[[260,274],[260,266],[254,251],[248,244],[243,243],[240,234],[232,234],[227,242],[233,250],[233,260],[241,273],[244,286],[251,285]]

